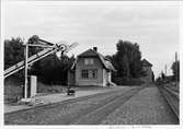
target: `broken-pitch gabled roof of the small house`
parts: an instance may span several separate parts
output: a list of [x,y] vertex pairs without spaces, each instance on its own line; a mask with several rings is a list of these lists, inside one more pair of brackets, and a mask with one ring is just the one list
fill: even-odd
[[110,60],[107,60],[103,55],[101,55],[100,52],[93,50],[93,49],[88,49],[85,50],[84,52],[78,55],[76,61],[73,62],[72,67],[71,67],[71,70],[73,70],[76,63],[77,63],[77,60],[78,58],[81,58],[81,57],[96,57],[101,60],[103,67],[107,70],[112,70],[112,71],[116,71],[113,67],[113,64],[111,63]]

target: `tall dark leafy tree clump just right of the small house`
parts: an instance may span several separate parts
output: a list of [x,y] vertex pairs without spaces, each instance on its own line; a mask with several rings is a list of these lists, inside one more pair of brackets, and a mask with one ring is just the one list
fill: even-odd
[[116,44],[116,52],[106,57],[117,70],[112,75],[112,80],[117,84],[133,82],[131,79],[138,79],[136,82],[140,83],[139,78],[146,75],[142,70],[141,51],[137,43],[121,39]]

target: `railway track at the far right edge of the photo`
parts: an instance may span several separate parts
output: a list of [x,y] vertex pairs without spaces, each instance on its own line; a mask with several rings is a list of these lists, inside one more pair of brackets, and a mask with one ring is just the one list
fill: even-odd
[[180,97],[179,93],[168,86],[159,86],[160,92],[165,98],[167,103],[175,114],[178,120],[180,119]]

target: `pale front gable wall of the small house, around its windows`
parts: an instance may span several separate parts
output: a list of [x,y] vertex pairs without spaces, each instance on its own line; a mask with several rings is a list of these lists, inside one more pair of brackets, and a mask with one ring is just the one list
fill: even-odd
[[[81,70],[96,69],[96,79],[82,79]],[[84,64],[84,58],[79,58],[76,64],[76,85],[101,85],[104,86],[104,69],[99,58],[93,58],[93,64]]]

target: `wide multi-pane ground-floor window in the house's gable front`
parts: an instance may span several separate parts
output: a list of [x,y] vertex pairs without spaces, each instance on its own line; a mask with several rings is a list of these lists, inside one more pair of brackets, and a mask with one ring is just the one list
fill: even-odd
[[82,79],[96,79],[98,70],[81,70],[81,78]]

